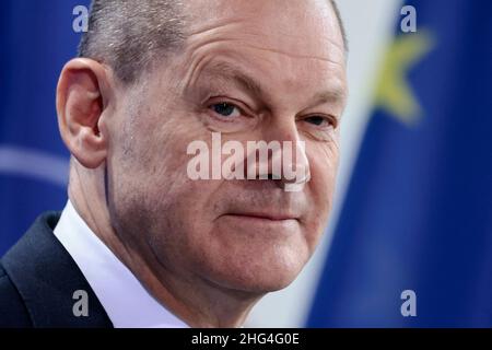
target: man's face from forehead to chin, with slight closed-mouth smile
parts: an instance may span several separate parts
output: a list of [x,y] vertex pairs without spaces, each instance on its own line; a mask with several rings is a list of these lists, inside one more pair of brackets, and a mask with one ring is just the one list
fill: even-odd
[[[344,106],[343,42],[326,0],[189,1],[186,46],[117,101],[113,224],[161,271],[263,293],[286,287],[324,231]],[[187,147],[304,141],[311,180],[199,179]]]

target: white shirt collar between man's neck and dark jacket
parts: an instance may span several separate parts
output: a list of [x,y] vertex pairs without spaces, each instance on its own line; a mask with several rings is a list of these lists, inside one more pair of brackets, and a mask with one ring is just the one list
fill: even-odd
[[186,328],[91,231],[70,200],[54,230],[97,295],[115,328]]

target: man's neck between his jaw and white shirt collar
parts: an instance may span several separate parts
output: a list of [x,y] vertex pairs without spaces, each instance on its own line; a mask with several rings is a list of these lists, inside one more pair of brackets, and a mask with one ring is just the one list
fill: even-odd
[[171,271],[143,242],[126,242],[112,225],[104,166],[87,170],[74,161],[69,198],[77,212],[162,305],[191,327],[241,327],[262,294],[218,285],[192,271]]

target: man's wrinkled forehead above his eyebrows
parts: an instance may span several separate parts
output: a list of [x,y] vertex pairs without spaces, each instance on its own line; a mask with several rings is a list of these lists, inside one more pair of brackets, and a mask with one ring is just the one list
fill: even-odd
[[293,91],[308,89],[313,81],[331,82],[343,90],[343,39],[327,0],[203,3],[197,1],[188,10],[187,84],[203,72],[216,72],[218,61],[225,59],[263,82],[292,86]]

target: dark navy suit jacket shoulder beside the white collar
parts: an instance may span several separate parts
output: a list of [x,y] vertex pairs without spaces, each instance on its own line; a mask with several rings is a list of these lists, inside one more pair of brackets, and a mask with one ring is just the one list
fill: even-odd
[[[0,327],[113,327],[77,264],[52,230],[60,213],[40,215],[0,260]],[[75,316],[73,293],[87,293],[87,316]]]

